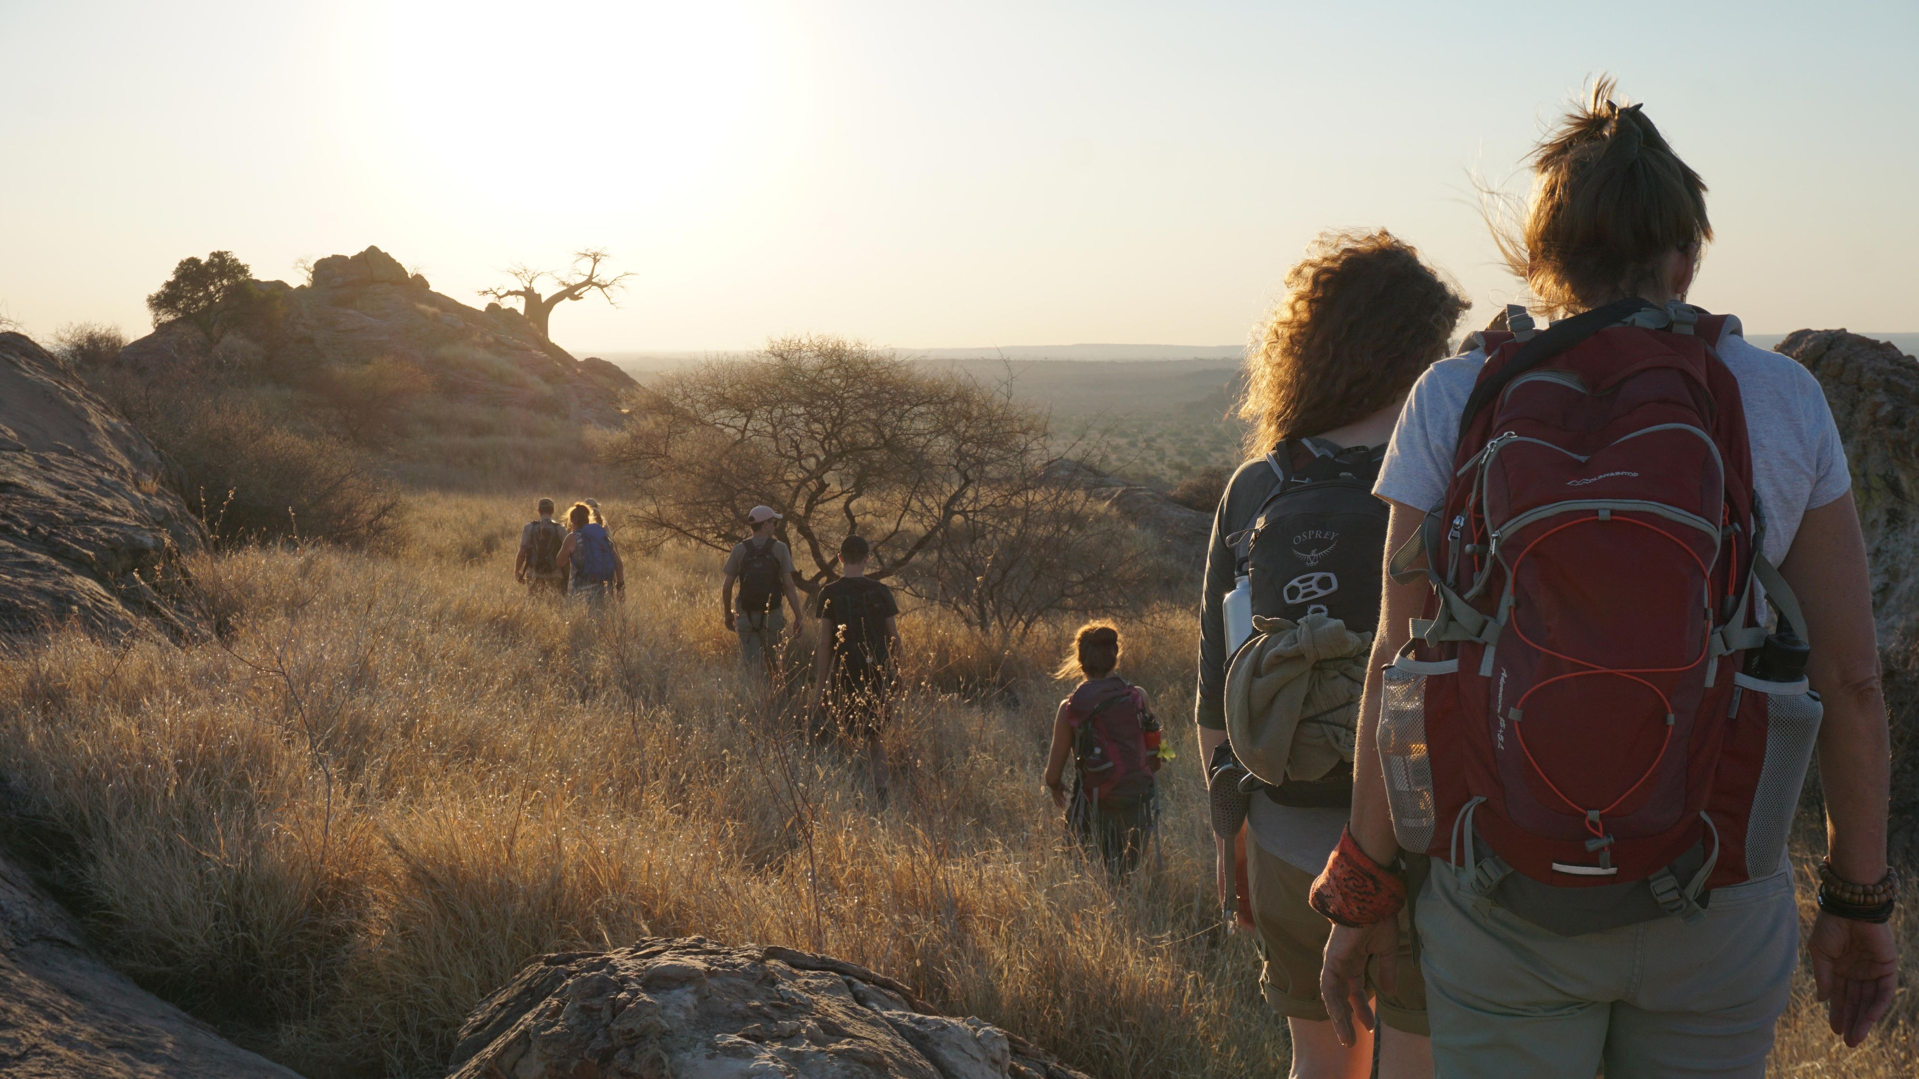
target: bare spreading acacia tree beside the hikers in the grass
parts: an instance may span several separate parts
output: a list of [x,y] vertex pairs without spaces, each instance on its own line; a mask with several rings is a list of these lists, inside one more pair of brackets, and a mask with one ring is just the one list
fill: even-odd
[[808,593],[839,540],[873,545],[869,576],[935,555],[983,492],[1044,453],[1046,417],[988,388],[842,338],[773,340],[750,359],[679,371],[629,397],[606,455],[639,480],[639,524],[729,549],[758,503],[785,515]]

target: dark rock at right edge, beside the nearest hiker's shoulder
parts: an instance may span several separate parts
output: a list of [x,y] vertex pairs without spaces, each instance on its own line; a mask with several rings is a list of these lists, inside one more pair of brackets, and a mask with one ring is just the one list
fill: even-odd
[[1796,330],[1777,349],[1819,378],[1846,445],[1892,720],[1888,841],[1919,866],[1919,361],[1846,330]]

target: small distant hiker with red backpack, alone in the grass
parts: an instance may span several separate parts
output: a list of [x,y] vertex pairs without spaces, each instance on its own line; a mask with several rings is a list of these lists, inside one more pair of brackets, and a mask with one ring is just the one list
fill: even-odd
[[[1088,622],[1054,678],[1078,678],[1054,714],[1046,791],[1067,810],[1067,827],[1115,874],[1130,874],[1153,835],[1159,720],[1146,691],[1119,676],[1119,630]],[[1065,768],[1073,762],[1073,789]]]

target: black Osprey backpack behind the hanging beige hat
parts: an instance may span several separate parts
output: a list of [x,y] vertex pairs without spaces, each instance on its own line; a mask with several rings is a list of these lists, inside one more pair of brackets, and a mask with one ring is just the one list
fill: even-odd
[[[1297,459],[1307,463],[1295,470]],[[1251,587],[1255,618],[1297,622],[1326,614],[1355,634],[1376,628],[1389,511],[1374,497],[1372,482],[1384,459],[1384,449],[1351,445],[1336,453],[1291,438],[1267,453],[1280,482],[1247,526],[1226,538],[1234,576],[1244,574]],[[1253,639],[1257,634],[1247,643]],[[1347,806],[1353,770],[1288,779],[1267,787],[1267,795],[1288,806]]]

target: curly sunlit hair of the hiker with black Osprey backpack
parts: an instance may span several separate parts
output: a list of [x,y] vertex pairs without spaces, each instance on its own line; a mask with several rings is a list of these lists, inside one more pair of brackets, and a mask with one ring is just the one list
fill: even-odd
[[1386,228],[1322,232],[1245,353],[1249,457],[1399,401],[1472,303]]

